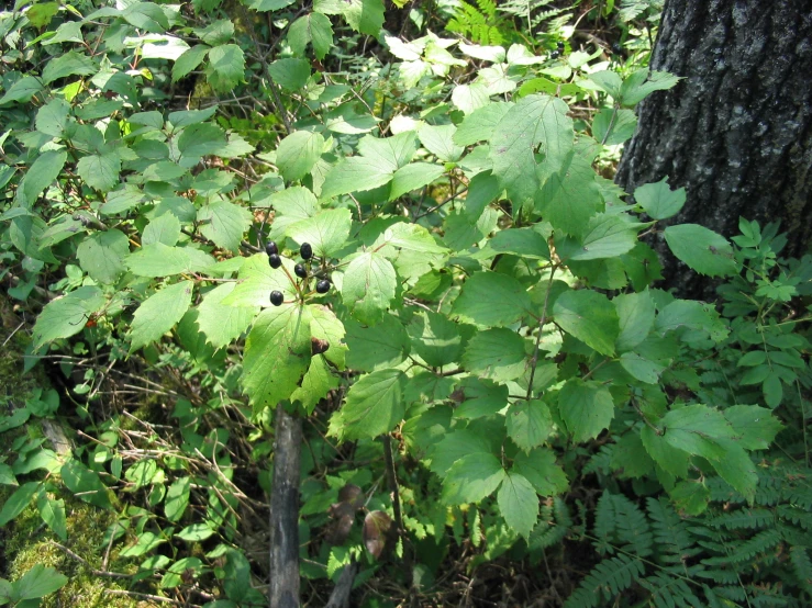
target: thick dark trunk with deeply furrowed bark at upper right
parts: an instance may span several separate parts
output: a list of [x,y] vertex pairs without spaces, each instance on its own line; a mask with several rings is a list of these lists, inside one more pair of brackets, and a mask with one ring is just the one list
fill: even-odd
[[[615,181],[632,193],[668,176],[688,194],[669,223],[725,237],[738,217],[780,219],[787,256],[812,241],[812,3],[667,0],[650,68],[683,78],[638,108]],[[713,297],[661,240],[666,286]]]

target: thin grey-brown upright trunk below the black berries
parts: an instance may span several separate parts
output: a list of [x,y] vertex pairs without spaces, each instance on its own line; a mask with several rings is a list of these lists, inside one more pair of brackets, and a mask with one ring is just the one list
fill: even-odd
[[276,408],[270,487],[270,608],[299,608],[299,476],[302,419]]

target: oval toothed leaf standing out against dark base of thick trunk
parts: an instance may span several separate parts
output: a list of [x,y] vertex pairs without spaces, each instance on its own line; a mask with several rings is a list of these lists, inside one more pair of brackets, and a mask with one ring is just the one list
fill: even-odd
[[665,237],[674,255],[700,274],[724,277],[738,273],[731,244],[713,230],[698,224],[679,224],[668,226]]

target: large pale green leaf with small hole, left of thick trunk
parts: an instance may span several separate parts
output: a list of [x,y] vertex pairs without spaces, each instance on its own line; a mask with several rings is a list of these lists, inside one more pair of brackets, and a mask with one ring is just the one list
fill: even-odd
[[[560,99],[533,94],[522,98],[497,123],[490,138],[493,174],[515,206],[533,199],[541,185],[536,149],[550,172],[561,168],[567,151],[572,149],[572,121],[568,112]],[[593,176],[592,168],[588,166],[588,170]]]

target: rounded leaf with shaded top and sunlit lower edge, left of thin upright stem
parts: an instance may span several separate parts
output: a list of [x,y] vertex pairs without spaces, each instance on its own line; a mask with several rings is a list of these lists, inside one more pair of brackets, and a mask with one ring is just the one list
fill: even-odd
[[482,378],[515,380],[527,364],[524,338],[504,328],[480,331],[468,342],[461,362]]

